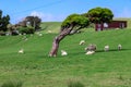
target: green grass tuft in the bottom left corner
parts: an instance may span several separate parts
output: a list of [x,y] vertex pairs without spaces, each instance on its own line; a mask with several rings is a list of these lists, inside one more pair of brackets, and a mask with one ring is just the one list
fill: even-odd
[[1,87],[22,87],[23,83],[22,82],[5,82],[1,85]]

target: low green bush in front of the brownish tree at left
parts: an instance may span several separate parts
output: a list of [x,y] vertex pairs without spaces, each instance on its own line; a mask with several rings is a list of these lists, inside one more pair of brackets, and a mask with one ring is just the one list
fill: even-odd
[[34,34],[35,33],[35,29],[31,26],[28,27],[19,27],[19,32],[21,34]]

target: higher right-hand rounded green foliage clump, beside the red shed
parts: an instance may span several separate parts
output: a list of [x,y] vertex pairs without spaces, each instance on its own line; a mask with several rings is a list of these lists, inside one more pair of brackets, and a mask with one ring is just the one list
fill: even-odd
[[114,14],[107,8],[94,8],[87,12],[87,17],[92,23],[109,23],[112,21]]

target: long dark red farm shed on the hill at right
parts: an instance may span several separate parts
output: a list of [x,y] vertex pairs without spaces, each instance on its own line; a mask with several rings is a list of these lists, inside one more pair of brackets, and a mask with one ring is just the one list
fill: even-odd
[[110,28],[126,28],[127,21],[112,21],[111,23],[95,24],[95,30],[104,30]]

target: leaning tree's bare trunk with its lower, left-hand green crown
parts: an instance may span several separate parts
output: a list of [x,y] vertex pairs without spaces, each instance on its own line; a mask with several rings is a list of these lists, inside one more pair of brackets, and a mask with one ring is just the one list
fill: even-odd
[[87,17],[80,14],[69,15],[61,24],[61,29],[58,36],[55,37],[52,42],[51,51],[49,52],[50,57],[56,57],[59,48],[60,41],[68,35],[73,32],[75,34],[78,30],[87,27],[90,21]]

